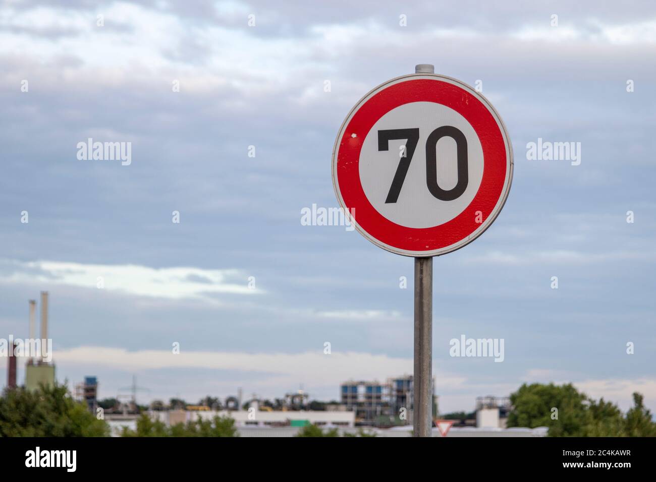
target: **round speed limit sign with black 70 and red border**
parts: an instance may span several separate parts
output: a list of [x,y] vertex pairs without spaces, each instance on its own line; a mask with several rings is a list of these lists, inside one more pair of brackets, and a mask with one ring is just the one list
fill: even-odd
[[432,73],[396,77],[350,111],[333,148],[333,186],[369,241],[440,256],[497,218],[512,182],[501,116],[472,87]]

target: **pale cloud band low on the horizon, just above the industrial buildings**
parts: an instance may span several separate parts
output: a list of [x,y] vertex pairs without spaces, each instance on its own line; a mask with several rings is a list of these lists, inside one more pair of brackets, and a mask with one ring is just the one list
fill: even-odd
[[[384,382],[391,376],[402,376],[413,372],[413,359],[411,358],[355,351],[344,353],[333,351],[330,355],[323,354],[321,350],[302,353],[247,353],[243,351],[185,351],[184,346],[181,346],[180,354],[174,355],[171,350],[128,351],[121,348],[80,346],[68,350],[55,350],[53,361],[60,374],[81,366],[91,371],[110,369],[119,372],[141,372],[142,376],[146,376],[144,372],[158,369],[258,372],[260,376],[258,376],[256,388],[260,393],[270,394],[267,396],[279,396],[281,388],[295,387],[299,383],[306,388],[312,388],[313,393],[330,394],[336,393],[339,384],[346,380]],[[5,367],[6,364],[6,359],[0,358],[0,368]],[[261,375],[262,373],[264,376]],[[476,397],[482,393],[505,396],[519,387],[518,382],[491,382],[491,380],[474,382],[464,375],[438,370],[435,365],[433,374],[436,379],[436,394],[440,397],[440,412],[442,413],[468,411],[473,409]],[[151,382],[154,380],[152,377],[147,378],[150,378]],[[531,369],[522,377],[522,380],[543,383],[553,381],[555,384],[572,382],[581,392],[594,399],[604,397],[607,401],[617,403],[623,411],[632,406],[633,392],[645,395],[647,407],[656,405],[656,379],[654,378],[632,380],[588,378],[581,381],[572,381],[572,378],[576,378],[576,375],[568,371]],[[222,382],[211,377],[211,384],[214,388],[220,387],[222,390],[226,390],[234,388],[236,382],[228,379]],[[175,385],[177,386],[177,384]],[[172,396],[167,387],[156,388],[156,391],[161,393],[158,396]],[[201,392],[194,393],[194,396],[206,394]],[[333,395],[327,396],[333,397]]]

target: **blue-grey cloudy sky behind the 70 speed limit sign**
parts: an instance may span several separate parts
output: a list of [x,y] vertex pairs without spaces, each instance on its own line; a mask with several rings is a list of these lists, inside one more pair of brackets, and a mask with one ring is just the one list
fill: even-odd
[[[515,153],[495,224],[434,260],[440,411],[550,381],[656,410],[653,3],[0,5],[0,337],[49,291],[58,379],[113,397],[136,374],[145,403],[411,373],[411,258],[300,212],[337,206],[350,108],[432,63],[482,81]],[[77,159],[87,138],[131,142],[131,164]],[[538,138],[581,164],[527,160]],[[461,334],[503,338],[504,361],[450,357]]]

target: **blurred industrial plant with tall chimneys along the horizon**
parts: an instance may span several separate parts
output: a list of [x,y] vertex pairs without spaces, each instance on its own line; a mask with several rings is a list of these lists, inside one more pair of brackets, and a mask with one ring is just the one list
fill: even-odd
[[[8,390],[18,386],[16,368],[19,357],[27,358],[24,382],[26,390],[33,392],[55,383],[52,340],[48,338],[48,303],[47,291],[41,292],[39,307],[36,300],[29,300],[30,338],[25,341],[11,338],[10,349],[7,350]],[[37,308],[40,308],[41,313],[41,333],[38,338]],[[147,389],[137,386],[136,376],[133,376],[131,386],[119,389],[115,397],[104,400],[98,398],[98,378],[85,376],[82,382],[74,385],[72,395],[77,401],[84,403],[92,414],[106,420],[113,435],[119,435],[123,428],[133,429],[138,417],[147,413],[152,420],[159,420],[167,426],[199,418],[212,420],[215,416],[228,416],[234,420],[241,435],[255,437],[291,436],[299,428],[309,424],[347,432],[357,427],[366,427],[379,431],[379,435],[383,436],[405,436],[405,432],[413,424],[413,381],[411,375],[391,377],[385,382],[349,380],[340,384],[339,401],[328,403],[311,401],[309,394],[302,388],[296,392],[285,393],[274,402],[255,394],[244,401],[241,388],[237,388],[236,395],[228,395],[224,399],[208,396],[196,405],[179,399],[171,399],[169,405],[162,401],[139,405],[137,392]],[[437,414],[438,397],[434,393],[434,385],[435,380],[432,382],[432,412]],[[509,410],[510,401],[507,398],[479,397],[476,399],[475,412],[449,420],[449,427],[453,426],[451,436],[544,435],[544,431],[537,429],[505,430]],[[401,432],[394,432],[395,429]],[[474,432],[471,432],[472,430]],[[460,435],[457,435],[458,433]]]

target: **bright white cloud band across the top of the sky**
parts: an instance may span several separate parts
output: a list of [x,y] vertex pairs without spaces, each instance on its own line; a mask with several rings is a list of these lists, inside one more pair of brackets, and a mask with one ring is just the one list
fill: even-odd
[[[337,24],[318,17],[303,31],[261,35],[258,28],[247,28],[246,5],[220,3],[216,11],[219,16],[243,18],[225,24],[210,19],[188,22],[172,11],[125,2],[113,2],[97,11],[5,7],[0,10],[0,54],[18,56],[22,64],[46,64],[62,56],[75,56],[79,64],[58,69],[60,75],[52,79],[69,79],[75,85],[86,79],[101,85],[152,83],[153,77],[163,75],[165,79],[180,79],[185,92],[206,93],[230,87],[243,94],[265,95],[302,83],[298,77],[308,72],[338,75],[338,68],[332,64],[358,51],[387,47],[417,50],[449,39],[621,45],[656,41],[653,21],[610,24],[586,20],[552,28],[548,18],[544,24],[522,24],[513,31],[487,33],[464,26],[431,27],[409,36],[403,29],[390,28],[382,19]],[[96,14],[104,15],[104,27],[96,26]],[[316,83],[300,87],[302,96],[312,98],[310,89],[320,85],[321,80],[318,77]]]

